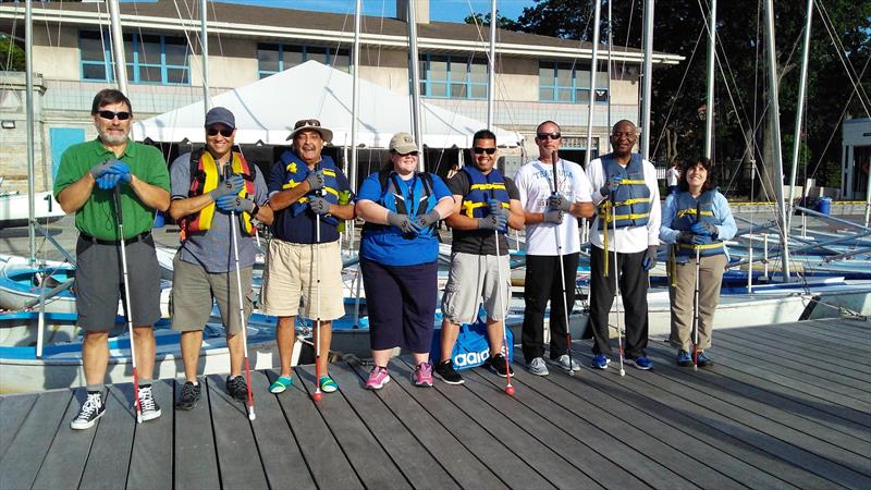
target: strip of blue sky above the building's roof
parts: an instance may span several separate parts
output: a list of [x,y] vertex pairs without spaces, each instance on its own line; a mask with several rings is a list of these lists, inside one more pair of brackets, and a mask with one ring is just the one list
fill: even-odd
[[[249,3],[262,7],[317,10],[321,12],[354,13],[355,0],[221,0],[230,3]],[[525,7],[535,5],[535,0],[499,0],[499,14],[517,20]],[[366,15],[396,16],[396,0],[363,0]],[[429,16],[432,21],[463,22],[471,12],[489,13],[490,0],[431,0]]]

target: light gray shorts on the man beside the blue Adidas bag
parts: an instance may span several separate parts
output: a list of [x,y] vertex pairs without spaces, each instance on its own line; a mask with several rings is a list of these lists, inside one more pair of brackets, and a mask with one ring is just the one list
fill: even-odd
[[[499,271],[502,269],[502,301],[499,301]],[[451,254],[451,272],[442,296],[442,315],[452,323],[470,323],[478,317],[483,301],[487,318],[502,320],[511,298],[508,256]]]

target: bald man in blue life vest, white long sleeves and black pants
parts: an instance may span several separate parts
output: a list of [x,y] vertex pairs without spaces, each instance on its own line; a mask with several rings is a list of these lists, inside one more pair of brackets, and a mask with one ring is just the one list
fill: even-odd
[[[615,249],[619,291],[626,310],[626,359],[639,369],[652,366],[645,354],[647,285],[648,271],[657,265],[660,243],[660,192],[657,170],[640,155],[631,152],[637,139],[635,124],[618,121],[611,132],[612,152],[591,161],[587,168],[594,189],[592,200],[599,206],[590,229],[589,323],[594,339],[592,367],[599,369],[608,368],[611,362],[608,315],[614,303]],[[613,215],[616,216],[616,233]]]

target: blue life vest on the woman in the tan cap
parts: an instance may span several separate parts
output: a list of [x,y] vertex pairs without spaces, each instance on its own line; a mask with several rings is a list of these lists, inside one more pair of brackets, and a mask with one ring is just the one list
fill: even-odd
[[[405,187],[409,188],[409,195],[403,193],[400,177],[392,170],[378,172],[378,182],[381,184],[381,197],[378,204],[397,215],[407,215],[409,219],[424,216],[436,208],[438,200],[432,192],[432,175],[427,172],[415,172],[415,176],[405,181]],[[436,234],[436,225],[432,224],[426,230],[421,230],[417,235],[403,234],[402,230],[392,224],[378,224],[366,222],[363,225],[364,233],[395,233],[405,238],[412,240],[415,236],[432,236]]]

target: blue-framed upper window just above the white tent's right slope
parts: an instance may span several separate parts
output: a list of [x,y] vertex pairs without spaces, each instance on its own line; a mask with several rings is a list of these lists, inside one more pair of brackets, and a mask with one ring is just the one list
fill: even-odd
[[487,62],[468,57],[421,54],[420,95],[447,99],[486,99]]

